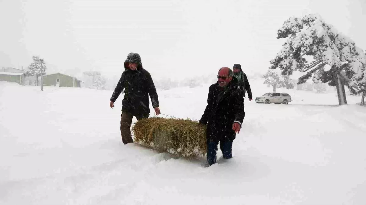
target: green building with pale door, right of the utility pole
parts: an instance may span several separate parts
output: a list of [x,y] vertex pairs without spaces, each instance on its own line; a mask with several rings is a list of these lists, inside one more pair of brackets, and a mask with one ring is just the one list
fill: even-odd
[[62,73],[54,73],[43,76],[44,86],[82,88],[84,83],[75,77]]

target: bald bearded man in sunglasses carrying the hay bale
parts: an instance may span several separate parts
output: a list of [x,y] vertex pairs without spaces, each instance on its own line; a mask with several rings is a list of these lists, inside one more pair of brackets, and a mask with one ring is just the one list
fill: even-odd
[[244,120],[244,98],[238,89],[238,80],[228,67],[219,70],[219,79],[209,88],[207,106],[199,120],[200,124],[207,124],[207,163],[216,163],[217,145],[224,159],[232,158],[232,143],[236,133],[240,132]]

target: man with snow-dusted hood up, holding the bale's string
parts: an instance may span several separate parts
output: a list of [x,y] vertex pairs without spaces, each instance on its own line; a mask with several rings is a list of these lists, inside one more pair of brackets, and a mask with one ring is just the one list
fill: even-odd
[[151,104],[157,115],[160,114],[158,94],[150,73],[142,67],[141,57],[137,53],[130,53],[124,62],[124,71],[112,94],[110,107],[124,89],[121,114],[121,136],[124,144],[133,143],[131,137],[132,118],[137,120],[149,117],[149,95]]

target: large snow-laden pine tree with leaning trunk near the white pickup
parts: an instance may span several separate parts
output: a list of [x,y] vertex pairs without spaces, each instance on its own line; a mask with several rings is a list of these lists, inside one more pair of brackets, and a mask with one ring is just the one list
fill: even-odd
[[[298,84],[316,74],[315,83],[320,80],[336,86],[339,104],[347,104],[344,86],[359,86],[366,63],[365,54],[355,42],[325,23],[321,16],[313,14],[289,18],[277,35],[277,39],[286,38],[286,41],[283,49],[270,61],[270,69],[279,67],[283,75],[292,75],[294,70],[306,73],[299,78]],[[312,57],[313,62],[308,63],[305,57]],[[350,71],[349,83],[341,71]]]

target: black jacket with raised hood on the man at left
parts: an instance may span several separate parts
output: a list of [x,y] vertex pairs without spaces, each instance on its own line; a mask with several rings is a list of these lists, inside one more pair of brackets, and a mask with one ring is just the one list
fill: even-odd
[[[137,63],[137,69],[131,70],[128,63]],[[143,69],[141,57],[137,53],[130,53],[124,62],[124,71],[112,94],[111,101],[115,102],[124,89],[122,112],[133,115],[150,113],[149,95],[153,108],[159,107],[158,94],[150,73]]]

